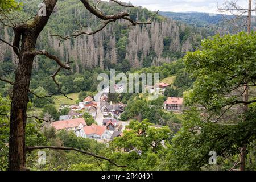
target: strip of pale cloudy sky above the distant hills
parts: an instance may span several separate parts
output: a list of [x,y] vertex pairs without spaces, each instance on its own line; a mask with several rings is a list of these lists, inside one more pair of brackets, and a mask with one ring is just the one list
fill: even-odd
[[[218,5],[223,5],[225,0],[121,0],[131,2],[136,6],[143,6],[152,11],[198,11],[207,13],[218,13]],[[247,0],[238,0],[241,6],[246,6]]]

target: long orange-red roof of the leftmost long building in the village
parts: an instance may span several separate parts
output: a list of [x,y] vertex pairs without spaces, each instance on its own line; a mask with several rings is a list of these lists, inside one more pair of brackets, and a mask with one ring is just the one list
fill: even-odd
[[68,119],[63,121],[55,121],[52,122],[51,125],[56,130],[68,129],[70,127],[77,127],[82,123],[82,125],[86,126],[86,122],[84,118],[76,118],[76,119]]

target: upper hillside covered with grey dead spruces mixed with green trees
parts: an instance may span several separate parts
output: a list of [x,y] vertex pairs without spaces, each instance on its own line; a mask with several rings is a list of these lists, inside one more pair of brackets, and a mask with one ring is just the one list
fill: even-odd
[[[24,2],[27,16],[31,7],[37,6],[40,1]],[[120,7],[116,3],[102,2],[100,8],[106,13],[117,12]],[[146,20],[153,14],[142,7],[127,9],[134,20]],[[72,17],[70,16],[72,14]],[[208,32],[204,29],[188,26],[174,20],[156,16],[151,25],[131,28],[125,20],[117,20],[103,31],[92,36],[79,36],[77,39],[68,39],[59,44],[59,37],[49,34],[67,36],[80,30],[95,30],[101,25],[100,21],[88,11],[85,11],[80,2],[71,0],[60,1],[56,12],[53,13],[49,23],[39,37],[38,47],[56,52],[61,58],[73,61],[72,73],[81,73],[84,69],[100,67],[127,68],[150,67],[170,63],[183,57],[187,51],[195,50],[200,40],[206,38]],[[90,28],[89,28],[90,27]],[[10,30],[2,30],[5,40],[11,40]],[[14,52],[1,43],[4,50],[0,60],[12,60],[16,63]],[[5,59],[3,59],[5,58]],[[39,58],[34,68],[42,68],[45,60]]]

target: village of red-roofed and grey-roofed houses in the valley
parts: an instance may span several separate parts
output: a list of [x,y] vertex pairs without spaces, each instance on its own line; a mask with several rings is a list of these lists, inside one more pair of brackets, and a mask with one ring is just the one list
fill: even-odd
[[[170,84],[160,82],[150,88],[150,93],[157,92],[163,94],[165,89],[170,87]],[[115,92],[121,93],[122,85],[115,85]],[[95,96],[87,96],[79,104],[65,105],[61,104],[59,111],[67,108],[67,115],[60,115],[59,121],[54,121],[49,124],[56,131],[67,130],[73,131],[77,137],[95,139],[97,142],[106,143],[113,140],[114,137],[121,137],[129,121],[121,121],[120,115],[125,111],[126,104],[122,102],[113,103],[109,101],[109,87]],[[164,101],[162,109],[181,113],[183,98],[167,97]],[[93,119],[92,125],[87,125],[84,114],[88,113]],[[155,126],[161,127],[161,126]]]

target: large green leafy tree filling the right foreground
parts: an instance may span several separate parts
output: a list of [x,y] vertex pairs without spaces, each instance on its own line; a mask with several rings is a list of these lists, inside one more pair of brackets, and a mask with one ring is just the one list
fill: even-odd
[[[240,88],[255,85],[255,33],[214,36],[202,48],[185,56],[187,71],[195,78],[185,93],[184,121],[172,139],[170,169],[210,169],[209,151],[216,151],[218,166],[230,169],[243,144],[255,140],[255,106],[241,113]],[[238,92],[238,94],[234,94]],[[246,166],[251,168],[251,166]]]

